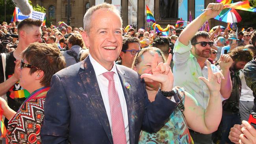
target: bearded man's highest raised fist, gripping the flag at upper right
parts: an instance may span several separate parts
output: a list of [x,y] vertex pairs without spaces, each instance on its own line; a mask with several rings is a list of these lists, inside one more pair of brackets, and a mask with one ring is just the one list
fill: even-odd
[[224,5],[222,3],[210,3],[208,4],[206,9],[208,10],[204,11],[204,14],[207,17],[207,19],[215,18],[224,9]]

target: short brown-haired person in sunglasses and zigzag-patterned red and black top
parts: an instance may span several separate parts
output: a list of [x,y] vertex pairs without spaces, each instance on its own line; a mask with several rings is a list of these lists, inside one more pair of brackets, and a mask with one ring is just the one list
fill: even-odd
[[52,75],[65,68],[65,58],[56,45],[45,43],[30,44],[21,57],[19,84],[30,95],[17,112],[0,98],[3,115],[9,120],[6,139],[9,144],[41,144],[46,93]]

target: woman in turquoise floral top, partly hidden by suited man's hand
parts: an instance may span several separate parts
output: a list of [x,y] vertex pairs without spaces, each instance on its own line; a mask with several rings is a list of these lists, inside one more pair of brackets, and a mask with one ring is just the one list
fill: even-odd
[[[154,63],[152,60],[154,59]],[[136,55],[133,69],[139,74],[150,75],[154,70],[163,65],[165,58],[160,49],[149,47],[143,48]],[[167,63],[171,62],[171,54]],[[222,105],[220,95],[220,82],[223,75],[220,72],[211,71],[208,61],[208,79],[199,78],[206,83],[210,90],[208,107],[203,109],[189,93],[180,87],[174,87],[173,91],[178,95],[181,103],[171,114],[170,119],[157,133],[147,133],[141,131],[139,144],[192,144],[193,140],[189,134],[188,127],[200,133],[212,133],[216,131],[221,121]],[[172,75],[173,77],[173,75]],[[156,93],[160,88],[160,83],[145,78],[146,90],[150,102],[154,102]],[[173,83],[170,83],[173,85]]]

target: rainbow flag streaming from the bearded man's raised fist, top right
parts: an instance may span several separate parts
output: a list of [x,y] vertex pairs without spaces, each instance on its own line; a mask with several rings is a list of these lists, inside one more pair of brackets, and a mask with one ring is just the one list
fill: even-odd
[[256,12],[256,8],[251,7],[248,0],[245,0],[243,2],[235,2],[232,4],[225,4],[225,7],[231,8],[231,9],[240,9],[243,11],[251,11]]

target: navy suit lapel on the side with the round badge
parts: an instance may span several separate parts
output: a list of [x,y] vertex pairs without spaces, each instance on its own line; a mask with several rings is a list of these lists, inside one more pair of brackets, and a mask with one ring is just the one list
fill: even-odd
[[126,88],[127,84],[131,84],[130,81],[131,78],[125,74],[124,70],[122,70],[119,65],[117,66],[117,72],[122,84],[122,89],[124,91],[124,97],[126,100],[126,106],[127,106],[127,113],[128,113],[128,124],[129,124],[129,137],[130,137],[130,144],[135,143],[135,122],[134,122],[134,98],[130,95],[130,92],[132,90],[132,85],[130,88]]

